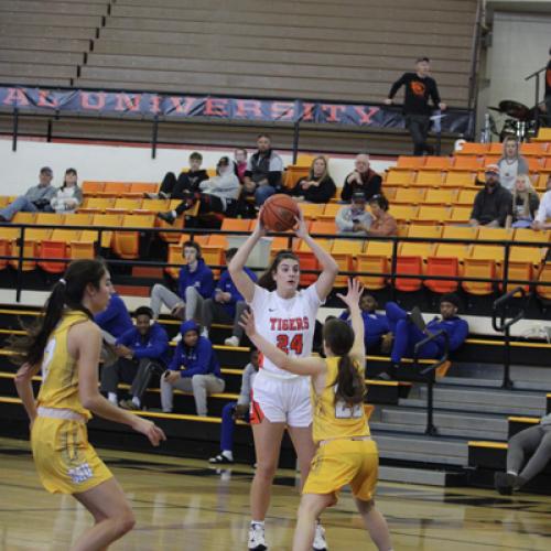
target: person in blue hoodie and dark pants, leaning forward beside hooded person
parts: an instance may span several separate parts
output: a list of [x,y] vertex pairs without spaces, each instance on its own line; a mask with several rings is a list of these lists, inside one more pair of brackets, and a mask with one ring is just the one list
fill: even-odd
[[117,338],[115,350],[118,360],[104,366],[100,390],[110,402],[117,404],[119,381],[131,383],[131,399],[121,400],[125,409],[141,409],[141,401],[153,375],[161,375],[169,365],[169,335],[153,322],[153,312],[140,306],[134,312],[136,326]]

